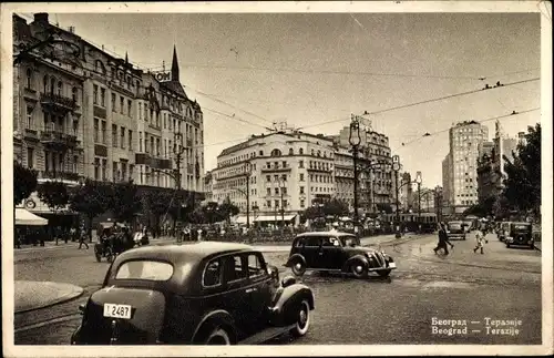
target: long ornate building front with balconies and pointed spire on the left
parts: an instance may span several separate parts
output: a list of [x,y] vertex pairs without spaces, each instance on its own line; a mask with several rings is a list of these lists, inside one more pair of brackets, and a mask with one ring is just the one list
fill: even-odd
[[51,24],[48,13],[29,24],[14,16],[13,45],[14,154],[39,180],[173,188],[178,171],[182,188],[203,191],[203,113],[179,83],[175,49],[162,81]]

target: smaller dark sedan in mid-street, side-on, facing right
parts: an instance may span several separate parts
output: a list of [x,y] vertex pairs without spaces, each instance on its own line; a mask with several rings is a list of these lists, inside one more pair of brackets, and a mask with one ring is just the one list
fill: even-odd
[[370,272],[387,277],[397,268],[392,257],[384,252],[361,246],[359,238],[352,234],[332,231],[296,236],[285,266],[298,276],[314,269],[339,270],[358,278],[367,277]]

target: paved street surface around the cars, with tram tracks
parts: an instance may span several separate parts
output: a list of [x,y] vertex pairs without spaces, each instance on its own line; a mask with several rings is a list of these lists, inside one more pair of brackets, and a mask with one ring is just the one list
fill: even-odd
[[[399,265],[390,280],[316,274],[302,277],[315,291],[316,310],[308,336],[291,344],[541,342],[538,250],[507,249],[489,235],[484,255],[474,254],[474,241],[468,239],[454,242],[451,256],[440,258],[432,252],[435,241],[427,235],[386,247]],[[265,256],[283,269],[288,248],[273,248],[266,247],[273,252]],[[96,263],[92,248],[80,250],[76,246],[16,252],[14,260],[17,280],[70,283],[84,288],[84,295],[73,301],[16,315],[16,344],[68,344],[79,324],[78,305],[100,287],[109,264]],[[493,335],[485,326],[486,318],[522,323],[517,335]],[[451,326],[434,325],[433,334],[433,321],[452,319],[465,320],[468,333],[449,336],[445,330],[441,335],[439,329]],[[270,344],[289,341],[284,337]]]

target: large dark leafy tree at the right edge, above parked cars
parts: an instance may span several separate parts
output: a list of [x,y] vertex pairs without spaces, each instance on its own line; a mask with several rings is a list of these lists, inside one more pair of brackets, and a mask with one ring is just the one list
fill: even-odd
[[510,208],[538,214],[541,206],[541,124],[529,126],[525,141],[517,144],[514,158],[504,156],[503,196]]

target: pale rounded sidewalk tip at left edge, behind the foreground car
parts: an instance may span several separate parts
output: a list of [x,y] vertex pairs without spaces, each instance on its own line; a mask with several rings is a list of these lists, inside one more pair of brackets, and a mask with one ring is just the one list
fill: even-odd
[[17,280],[13,283],[14,313],[45,308],[83,294],[83,288],[70,284]]

